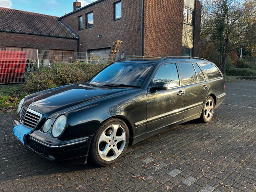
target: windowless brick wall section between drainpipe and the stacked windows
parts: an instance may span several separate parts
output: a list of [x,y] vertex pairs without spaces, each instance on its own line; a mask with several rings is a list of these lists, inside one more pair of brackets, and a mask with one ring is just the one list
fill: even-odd
[[184,0],[144,3],[144,55],[181,55]]

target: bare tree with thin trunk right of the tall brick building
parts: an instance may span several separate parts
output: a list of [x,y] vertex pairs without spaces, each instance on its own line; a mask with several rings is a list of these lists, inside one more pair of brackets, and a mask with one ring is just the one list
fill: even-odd
[[245,34],[252,30],[252,17],[246,12],[248,0],[204,0],[202,33],[210,35],[211,40],[220,53],[220,70],[226,74],[226,59],[228,52],[237,50],[241,43],[250,43],[256,39],[251,34],[250,39],[244,39]]

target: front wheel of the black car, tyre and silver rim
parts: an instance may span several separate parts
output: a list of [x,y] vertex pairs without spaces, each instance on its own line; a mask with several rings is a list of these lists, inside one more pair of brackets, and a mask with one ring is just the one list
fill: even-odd
[[[106,136],[106,133],[109,134],[110,131],[112,134],[112,131],[113,131],[112,126],[116,126],[116,125],[120,125],[120,128],[117,128],[118,132],[121,132],[122,134],[126,135],[126,139],[125,139],[126,141],[121,144],[122,152],[119,153],[115,159],[105,160],[101,157],[101,155],[99,153],[99,150],[101,150],[100,145],[102,145],[102,148],[109,149],[108,146],[110,146],[112,143],[100,141],[100,138],[103,133],[105,134],[104,136]],[[111,136],[111,134],[110,134],[110,136]],[[116,134],[116,136],[117,136],[117,134]],[[124,121],[122,121],[118,118],[111,118],[111,119],[107,120],[100,126],[99,130],[96,132],[96,134],[94,134],[94,137],[92,138],[90,151],[89,151],[90,159],[92,160],[92,162],[94,162],[95,164],[100,165],[100,166],[109,166],[109,165],[113,164],[114,162],[118,161],[125,153],[125,151],[128,147],[128,144],[129,144],[129,138],[130,138],[129,129]],[[116,139],[118,139],[118,138],[116,137]],[[114,138],[111,137],[110,140],[112,142],[112,140],[114,140]],[[118,142],[117,140],[115,140],[115,141]],[[113,149],[111,148],[110,149],[111,151],[109,151],[110,153],[113,153],[113,157],[111,157],[111,158],[114,158],[114,156],[115,156],[114,147],[118,148],[118,144],[120,144],[120,142],[114,143],[111,145],[111,147],[113,148]],[[105,144],[106,144],[106,146],[104,146]],[[121,146],[120,146],[120,149],[121,149]],[[106,156],[106,158],[108,158],[108,157]]]

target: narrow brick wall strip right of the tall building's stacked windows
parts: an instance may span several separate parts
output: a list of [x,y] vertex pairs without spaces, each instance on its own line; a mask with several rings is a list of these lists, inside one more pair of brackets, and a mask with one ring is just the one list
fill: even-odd
[[199,56],[199,49],[200,49],[200,30],[201,30],[201,11],[202,6],[199,0],[196,0],[195,4],[195,31],[194,31],[194,54],[193,56]]

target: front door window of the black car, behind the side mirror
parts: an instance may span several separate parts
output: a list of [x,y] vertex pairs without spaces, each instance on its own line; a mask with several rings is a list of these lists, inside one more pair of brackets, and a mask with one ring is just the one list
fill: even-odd
[[176,64],[165,64],[160,66],[153,82],[164,82],[168,85],[168,88],[180,86]]

